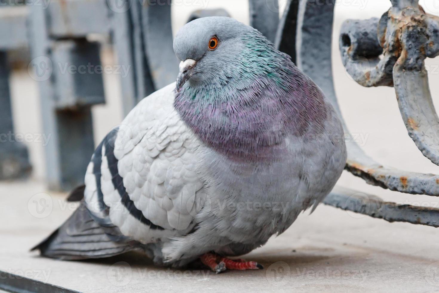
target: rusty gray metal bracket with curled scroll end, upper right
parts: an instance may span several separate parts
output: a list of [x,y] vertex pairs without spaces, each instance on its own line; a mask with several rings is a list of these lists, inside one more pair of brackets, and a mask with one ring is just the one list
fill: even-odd
[[424,156],[439,164],[439,118],[424,63],[439,54],[439,18],[426,14],[416,0],[395,0],[392,5],[379,21],[344,22],[343,64],[365,87],[395,87],[408,134]]

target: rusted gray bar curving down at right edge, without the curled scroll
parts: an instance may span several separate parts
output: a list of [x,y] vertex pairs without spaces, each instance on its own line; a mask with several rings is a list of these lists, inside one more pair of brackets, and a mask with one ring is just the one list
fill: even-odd
[[387,29],[393,28],[398,35],[389,42],[399,41],[402,49],[393,69],[393,83],[409,136],[425,157],[439,165],[439,117],[424,62],[439,54],[439,18],[425,14],[417,3],[412,5],[389,10]]

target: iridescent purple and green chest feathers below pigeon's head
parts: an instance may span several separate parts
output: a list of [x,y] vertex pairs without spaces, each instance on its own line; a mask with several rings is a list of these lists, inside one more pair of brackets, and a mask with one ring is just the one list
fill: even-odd
[[309,78],[288,87],[259,80],[246,89],[176,91],[176,111],[209,147],[234,161],[281,159],[286,137],[322,131],[323,94]]

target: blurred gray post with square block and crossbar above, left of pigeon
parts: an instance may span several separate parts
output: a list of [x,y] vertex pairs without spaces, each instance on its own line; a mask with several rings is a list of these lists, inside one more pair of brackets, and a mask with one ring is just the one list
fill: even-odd
[[[47,183],[51,189],[68,190],[83,184],[94,152],[90,107],[104,102],[102,75],[90,72],[101,65],[99,46],[85,37],[90,33],[87,28],[105,28],[71,23],[72,19],[80,19],[76,14],[92,8],[87,5],[99,8],[102,1],[75,2],[76,9],[62,7],[57,1],[52,1],[49,9],[30,7],[28,31],[33,58],[30,66],[34,69],[33,78],[39,83],[43,129],[51,135],[44,148]],[[101,14],[94,11],[94,22],[108,22],[106,9],[101,6],[96,10]],[[65,12],[63,18],[58,13],[60,9]],[[79,66],[85,71],[80,71]]]

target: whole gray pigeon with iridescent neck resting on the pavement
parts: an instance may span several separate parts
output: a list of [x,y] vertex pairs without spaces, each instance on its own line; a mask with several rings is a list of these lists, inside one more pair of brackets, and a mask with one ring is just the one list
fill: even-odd
[[34,249],[63,260],[135,250],[219,273],[331,192],[342,123],[320,88],[259,31],[199,18],[176,34],[176,82],[141,100],[96,148],[72,216]]

